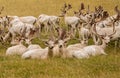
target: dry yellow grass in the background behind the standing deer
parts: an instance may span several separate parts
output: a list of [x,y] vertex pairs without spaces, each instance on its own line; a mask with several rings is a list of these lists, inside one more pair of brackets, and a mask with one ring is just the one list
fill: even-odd
[[80,3],[83,2],[87,8],[94,10],[95,6],[102,5],[110,14],[114,14],[114,7],[120,5],[119,0],[0,0],[0,6],[4,6],[5,10],[3,15],[33,15],[40,14],[59,15],[60,8],[64,3],[70,3],[73,6],[70,14],[77,10]]

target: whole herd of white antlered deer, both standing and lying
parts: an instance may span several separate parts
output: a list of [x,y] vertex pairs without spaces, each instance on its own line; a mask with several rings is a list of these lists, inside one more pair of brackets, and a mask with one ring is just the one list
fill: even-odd
[[[90,11],[89,5],[85,8],[81,3],[78,11],[73,12],[73,16],[67,15],[70,9],[71,4],[65,3],[60,9],[59,16],[1,16],[0,42],[4,46],[6,42],[12,45],[7,48],[6,56],[21,55],[22,59],[47,59],[56,56],[82,59],[107,55],[105,48],[111,41],[115,41],[115,47],[120,47],[118,6],[115,6],[116,14],[112,16],[101,5]],[[3,10],[4,7],[1,8],[0,14]],[[61,20],[66,27],[62,26]],[[39,38],[47,47],[42,48],[38,44],[33,44],[32,40],[35,38]],[[80,42],[67,44],[69,40],[74,39]],[[88,45],[90,39],[93,40],[93,45]]]

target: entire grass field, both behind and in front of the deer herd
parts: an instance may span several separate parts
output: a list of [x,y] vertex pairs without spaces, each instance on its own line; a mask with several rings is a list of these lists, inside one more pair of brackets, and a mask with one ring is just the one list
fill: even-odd
[[[5,7],[2,16],[38,17],[40,14],[59,15],[59,9],[64,2],[73,6],[70,15],[79,8],[81,2],[85,3],[86,7],[89,4],[91,10],[94,6],[102,5],[111,15],[115,14],[114,6],[120,5],[120,0],[0,0],[0,7]],[[44,47],[37,39],[33,43]],[[107,56],[90,59],[56,57],[47,60],[23,60],[20,56],[6,57],[6,49],[0,45],[0,78],[120,78],[120,48],[115,52],[113,46],[114,44],[110,43],[106,48]]]

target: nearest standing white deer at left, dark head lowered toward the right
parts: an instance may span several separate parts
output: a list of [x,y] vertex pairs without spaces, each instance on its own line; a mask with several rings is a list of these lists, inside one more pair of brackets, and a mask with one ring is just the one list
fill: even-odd
[[9,25],[11,25],[8,29],[9,32],[5,35],[3,40],[6,41],[11,35],[11,43],[14,43],[17,34],[20,36],[24,36],[27,39],[30,39],[30,37],[33,36],[34,33],[37,31],[32,24],[23,23],[20,21],[19,18],[11,20]]

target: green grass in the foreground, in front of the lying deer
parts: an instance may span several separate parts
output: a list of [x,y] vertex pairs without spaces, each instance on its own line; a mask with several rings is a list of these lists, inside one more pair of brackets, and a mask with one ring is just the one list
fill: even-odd
[[0,57],[1,78],[119,78],[120,54],[90,59],[22,60]]

